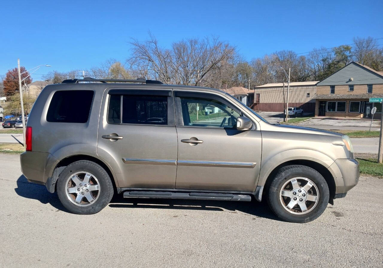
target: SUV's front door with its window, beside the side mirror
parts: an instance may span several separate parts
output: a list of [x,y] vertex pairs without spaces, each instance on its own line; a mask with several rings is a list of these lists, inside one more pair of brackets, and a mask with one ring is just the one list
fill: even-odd
[[[218,94],[175,91],[177,189],[255,191],[260,130],[236,130],[241,110]],[[194,142],[195,141],[195,142]]]

